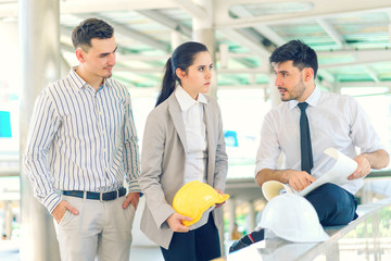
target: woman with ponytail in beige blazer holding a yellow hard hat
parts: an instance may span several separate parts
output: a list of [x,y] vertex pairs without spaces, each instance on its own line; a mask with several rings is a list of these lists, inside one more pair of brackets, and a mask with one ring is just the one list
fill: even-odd
[[204,95],[212,67],[204,45],[189,41],[176,48],[146,123],[139,184],[147,203],[141,231],[161,246],[165,260],[220,257],[222,208],[206,210],[187,227],[181,221],[191,217],[172,207],[175,194],[188,182],[206,183],[218,192],[225,188],[228,163],[220,110],[215,99]]

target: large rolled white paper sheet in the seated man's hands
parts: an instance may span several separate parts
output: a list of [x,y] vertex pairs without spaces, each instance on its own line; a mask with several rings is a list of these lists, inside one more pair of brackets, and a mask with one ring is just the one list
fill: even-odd
[[262,192],[267,200],[283,192],[297,192],[299,196],[305,196],[315,188],[326,184],[332,183],[342,186],[349,182],[348,177],[357,169],[357,162],[341,153],[335,148],[328,148],[325,153],[336,159],[336,164],[326,172],[321,177],[316,179],[313,184],[304,188],[302,191],[294,191],[288,184],[282,184],[276,181],[265,182],[262,185]]

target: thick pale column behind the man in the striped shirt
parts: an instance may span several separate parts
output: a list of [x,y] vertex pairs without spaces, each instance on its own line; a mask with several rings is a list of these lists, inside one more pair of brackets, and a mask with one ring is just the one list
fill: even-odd
[[[21,100],[21,159],[35,99],[60,76],[60,1],[18,1],[18,48]],[[60,260],[53,220],[34,197],[21,165],[21,260]]]

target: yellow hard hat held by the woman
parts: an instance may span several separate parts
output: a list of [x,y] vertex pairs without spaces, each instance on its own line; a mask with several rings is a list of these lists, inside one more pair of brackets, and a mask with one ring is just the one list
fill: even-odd
[[191,221],[182,221],[185,226],[190,226],[201,219],[205,210],[215,203],[223,203],[228,198],[228,194],[220,195],[210,185],[192,181],[176,192],[173,208],[179,214],[192,217]]

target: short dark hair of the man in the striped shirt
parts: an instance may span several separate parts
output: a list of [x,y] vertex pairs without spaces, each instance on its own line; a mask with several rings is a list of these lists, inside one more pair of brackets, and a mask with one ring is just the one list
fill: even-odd
[[72,42],[76,48],[88,49],[91,47],[91,39],[109,39],[114,35],[114,28],[99,18],[88,18],[83,21],[72,33]]

